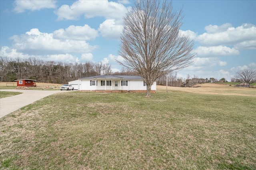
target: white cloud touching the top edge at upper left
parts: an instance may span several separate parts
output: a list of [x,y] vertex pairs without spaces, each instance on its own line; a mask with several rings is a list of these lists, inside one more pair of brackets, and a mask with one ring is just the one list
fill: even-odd
[[16,0],[14,12],[22,13],[25,10],[36,11],[44,8],[56,8],[55,0]]

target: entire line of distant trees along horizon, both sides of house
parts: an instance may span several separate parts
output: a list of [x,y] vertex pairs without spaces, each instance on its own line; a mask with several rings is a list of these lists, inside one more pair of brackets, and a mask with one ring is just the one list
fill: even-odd
[[[252,74],[248,74],[252,73]],[[238,72],[244,75],[244,79],[236,76],[231,78],[231,82],[255,82],[256,70],[246,69]],[[103,63],[63,63],[54,61],[42,61],[35,57],[28,59],[11,59],[8,57],[0,57],[0,81],[14,82],[19,79],[34,79],[37,82],[65,84],[68,81],[77,80],[78,78],[98,75],[137,75],[132,70],[122,68],[120,72],[112,72],[111,64]],[[250,75],[250,76],[247,76]],[[254,75],[251,76],[251,75]],[[251,78],[253,77],[253,78]],[[253,80],[253,81],[251,81]],[[207,82],[226,82],[225,78],[218,80],[217,78],[198,78],[196,75],[187,75],[186,78],[177,77],[177,72],[170,72],[167,75],[168,86],[190,86],[192,84],[202,84]],[[160,76],[157,85],[166,86],[166,75]]]

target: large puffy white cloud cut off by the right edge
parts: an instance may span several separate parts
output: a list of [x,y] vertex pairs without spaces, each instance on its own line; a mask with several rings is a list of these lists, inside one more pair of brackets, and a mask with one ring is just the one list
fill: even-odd
[[239,27],[231,27],[226,23],[221,26],[206,26],[207,33],[197,37],[197,41],[203,46],[216,45],[235,45],[244,41],[256,39],[256,26],[252,24],[243,24]]

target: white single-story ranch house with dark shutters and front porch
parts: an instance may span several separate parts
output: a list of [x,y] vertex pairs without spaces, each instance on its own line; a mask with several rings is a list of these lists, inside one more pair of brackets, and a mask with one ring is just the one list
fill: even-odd
[[[90,76],[70,81],[74,89],[92,92],[146,92],[144,78],[140,76]],[[156,82],[151,87],[156,92]]]

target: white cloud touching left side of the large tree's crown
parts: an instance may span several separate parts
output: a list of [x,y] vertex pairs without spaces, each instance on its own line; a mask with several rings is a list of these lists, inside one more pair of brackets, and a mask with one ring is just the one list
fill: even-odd
[[116,25],[115,20],[106,20],[98,29],[104,38],[119,39],[122,33],[122,25]]

